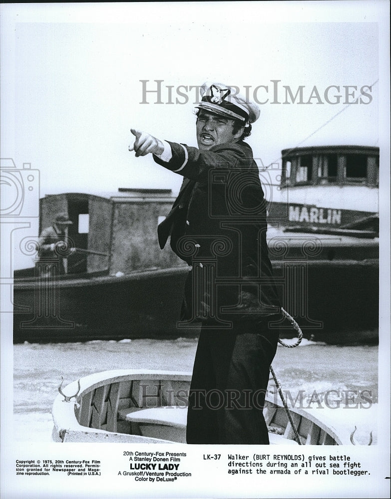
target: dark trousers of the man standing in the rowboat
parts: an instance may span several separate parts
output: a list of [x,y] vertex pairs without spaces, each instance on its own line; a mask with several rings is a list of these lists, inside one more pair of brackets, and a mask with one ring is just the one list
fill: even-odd
[[[280,318],[280,316],[278,316]],[[246,321],[201,328],[189,393],[188,444],[269,444],[262,409],[278,329]]]

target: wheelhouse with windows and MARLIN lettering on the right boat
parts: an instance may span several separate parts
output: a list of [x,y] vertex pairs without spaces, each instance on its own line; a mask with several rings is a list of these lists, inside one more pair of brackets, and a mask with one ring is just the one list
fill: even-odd
[[284,149],[269,223],[298,229],[379,230],[379,148]]

